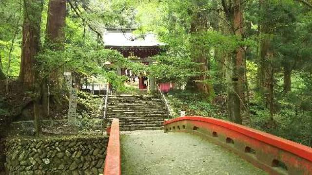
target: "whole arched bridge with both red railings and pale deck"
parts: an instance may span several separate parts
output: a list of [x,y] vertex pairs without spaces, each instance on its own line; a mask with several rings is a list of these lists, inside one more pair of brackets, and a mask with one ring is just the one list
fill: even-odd
[[181,117],[164,130],[123,133],[120,144],[115,119],[104,175],[312,175],[312,148],[249,127]]

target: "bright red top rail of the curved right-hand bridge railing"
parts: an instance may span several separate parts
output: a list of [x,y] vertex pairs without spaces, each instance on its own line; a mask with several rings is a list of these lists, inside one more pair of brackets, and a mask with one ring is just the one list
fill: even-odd
[[287,152],[290,152],[298,157],[305,158],[309,161],[312,161],[312,148],[293,142],[291,140],[282,139],[276,136],[273,136],[271,134],[261,132],[246,126],[242,126],[240,124],[231,123],[219,119],[214,118],[204,118],[204,117],[180,117],[176,118],[170,121],[164,122],[164,125],[178,122],[178,121],[200,121],[200,122],[206,122],[206,123],[212,123],[218,126],[222,126],[224,128],[233,130],[235,132],[238,132],[240,134],[243,134],[245,136],[248,136],[250,138],[253,138],[255,140],[259,140],[262,142],[265,142],[267,144],[270,144],[274,147],[277,147],[279,149],[285,150]]

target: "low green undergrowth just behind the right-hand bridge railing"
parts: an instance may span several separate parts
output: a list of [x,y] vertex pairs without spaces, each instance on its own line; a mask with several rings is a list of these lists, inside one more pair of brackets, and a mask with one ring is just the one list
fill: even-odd
[[[279,100],[273,121],[270,119],[270,111],[263,100],[254,95],[250,103],[249,126],[271,133],[275,136],[292,140],[301,144],[312,146],[312,112],[294,105],[293,100]],[[227,118],[227,102],[224,96],[217,96],[214,103],[204,100],[201,94],[187,91],[174,91],[168,95],[170,105],[177,114],[181,110],[186,111],[187,116],[214,117],[222,120]]]

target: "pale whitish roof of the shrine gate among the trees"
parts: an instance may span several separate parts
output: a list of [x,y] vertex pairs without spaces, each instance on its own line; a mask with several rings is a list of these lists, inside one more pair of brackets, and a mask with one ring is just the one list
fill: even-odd
[[135,35],[136,29],[106,28],[103,41],[106,47],[159,47],[165,45],[157,40],[156,35],[147,33]]

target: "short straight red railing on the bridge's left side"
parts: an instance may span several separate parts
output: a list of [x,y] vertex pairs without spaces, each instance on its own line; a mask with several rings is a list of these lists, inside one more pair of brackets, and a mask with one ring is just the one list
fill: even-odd
[[107,145],[104,175],[121,175],[119,120],[114,119]]

